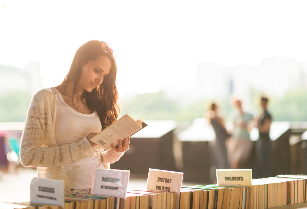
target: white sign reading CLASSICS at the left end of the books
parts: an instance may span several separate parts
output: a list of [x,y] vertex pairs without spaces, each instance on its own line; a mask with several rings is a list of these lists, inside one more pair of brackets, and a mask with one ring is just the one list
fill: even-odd
[[64,181],[35,177],[30,184],[30,202],[64,208]]

